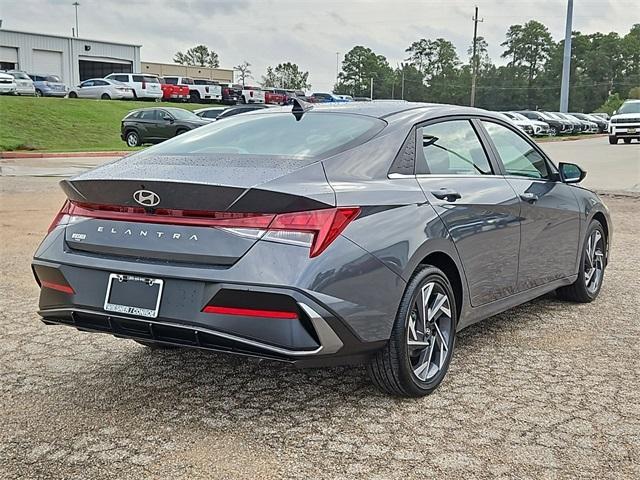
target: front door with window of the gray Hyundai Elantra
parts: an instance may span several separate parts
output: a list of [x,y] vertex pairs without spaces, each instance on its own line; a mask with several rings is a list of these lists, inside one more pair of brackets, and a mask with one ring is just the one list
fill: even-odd
[[511,127],[483,120],[505,179],[520,199],[518,290],[575,274],[580,212],[573,187],[529,139]]

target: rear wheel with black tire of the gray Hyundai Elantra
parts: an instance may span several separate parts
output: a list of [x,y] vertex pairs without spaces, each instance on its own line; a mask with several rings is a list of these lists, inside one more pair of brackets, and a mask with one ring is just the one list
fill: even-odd
[[389,343],[368,365],[383,392],[421,397],[444,379],[455,344],[457,311],[451,283],[442,270],[425,266],[404,293]]

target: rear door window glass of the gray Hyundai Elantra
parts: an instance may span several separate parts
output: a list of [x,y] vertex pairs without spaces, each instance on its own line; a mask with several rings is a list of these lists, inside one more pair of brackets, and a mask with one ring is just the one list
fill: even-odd
[[431,174],[491,175],[491,164],[469,120],[452,120],[419,129]]

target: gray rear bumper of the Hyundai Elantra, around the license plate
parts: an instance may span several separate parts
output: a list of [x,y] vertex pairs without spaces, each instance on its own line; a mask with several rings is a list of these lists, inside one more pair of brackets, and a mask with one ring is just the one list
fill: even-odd
[[[306,248],[257,242],[233,266],[203,268],[73,253],[57,233],[45,239],[32,263],[45,323],[298,366],[369,358],[389,338],[405,286],[396,273],[340,237],[331,246],[339,255],[310,260]],[[112,273],[163,280],[157,316],[105,310]],[[51,282],[69,285],[70,291],[52,289]],[[227,307],[240,313],[226,313]],[[296,315],[244,313],[273,309]]]

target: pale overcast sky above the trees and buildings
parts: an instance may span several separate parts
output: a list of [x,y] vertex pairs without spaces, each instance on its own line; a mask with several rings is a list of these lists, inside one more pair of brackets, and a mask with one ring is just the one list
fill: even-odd
[[[444,37],[466,59],[478,5],[478,34],[499,62],[509,25],[536,19],[557,40],[567,0],[79,0],[80,36],[142,45],[142,60],[171,62],[203,43],[221,67],[247,60],[255,81],[268,65],[292,61],[310,72],[313,90],[330,89],[340,58],[354,45],[385,55],[392,66],[419,38]],[[73,0],[0,0],[3,28],[70,34]],[[640,21],[638,0],[575,0],[573,29],[624,35]]]

